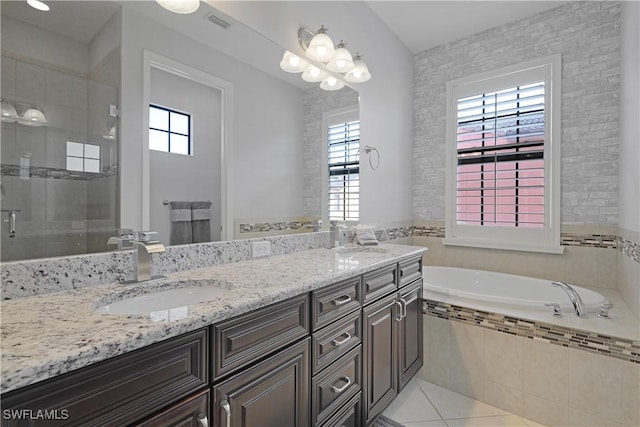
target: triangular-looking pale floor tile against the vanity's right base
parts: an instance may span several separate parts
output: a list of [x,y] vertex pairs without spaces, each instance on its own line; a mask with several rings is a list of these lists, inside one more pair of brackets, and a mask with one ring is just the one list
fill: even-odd
[[391,402],[382,413],[385,417],[402,424],[442,419],[416,381],[415,379],[410,381],[400,395]]

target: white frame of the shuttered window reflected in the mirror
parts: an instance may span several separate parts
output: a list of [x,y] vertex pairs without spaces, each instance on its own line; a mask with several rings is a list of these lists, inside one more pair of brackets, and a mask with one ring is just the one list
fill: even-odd
[[[330,221],[338,221],[341,223],[356,224],[360,219],[360,193],[358,192],[358,219],[335,220],[329,217],[329,127],[340,123],[349,123],[360,121],[359,107],[349,106],[331,110],[322,114],[322,221],[329,223]],[[361,141],[361,140],[360,140]],[[360,159],[358,159],[360,160]],[[358,165],[359,166],[359,165]],[[358,179],[360,180],[360,173]]]

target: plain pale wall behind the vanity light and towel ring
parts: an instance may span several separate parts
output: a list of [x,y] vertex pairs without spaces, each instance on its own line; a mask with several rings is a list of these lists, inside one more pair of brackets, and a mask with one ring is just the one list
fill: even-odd
[[[259,33],[299,52],[298,28],[329,29],[361,52],[372,79],[353,85],[360,93],[361,144],[380,150],[380,167],[361,171],[361,222],[412,219],[413,56],[364,2],[213,2]],[[279,58],[274,59],[276,61]]]

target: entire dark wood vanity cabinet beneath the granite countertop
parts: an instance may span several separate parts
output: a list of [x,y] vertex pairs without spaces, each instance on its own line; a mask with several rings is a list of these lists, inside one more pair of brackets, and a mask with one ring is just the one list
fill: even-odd
[[2,425],[368,426],[422,366],[421,272],[391,264],[5,393],[3,414],[58,419]]

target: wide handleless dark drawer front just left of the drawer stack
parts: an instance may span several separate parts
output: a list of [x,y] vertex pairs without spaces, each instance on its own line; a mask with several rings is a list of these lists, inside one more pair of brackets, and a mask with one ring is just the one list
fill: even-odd
[[308,301],[300,295],[214,325],[214,379],[307,336]]

